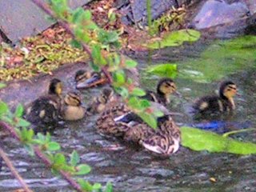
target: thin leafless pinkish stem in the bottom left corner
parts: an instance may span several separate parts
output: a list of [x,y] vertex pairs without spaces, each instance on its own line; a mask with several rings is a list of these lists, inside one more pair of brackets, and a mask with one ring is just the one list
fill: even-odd
[[9,167],[11,174],[14,175],[14,178],[18,180],[18,182],[22,185],[22,188],[26,192],[33,192],[33,190],[30,190],[29,186],[26,185],[26,182],[23,180],[23,178],[18,174],[18,171],[15,169],[13,163],[10,161],[10,158],[7,157],[6,153],[2,150],[2,147],[0,146],[0,156],[2,159],[6,162],[6,166]]

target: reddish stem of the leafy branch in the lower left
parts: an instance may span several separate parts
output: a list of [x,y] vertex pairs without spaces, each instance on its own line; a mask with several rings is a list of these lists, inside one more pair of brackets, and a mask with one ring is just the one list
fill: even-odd
[[[14,128],[7,124],[6,122],[0,121],[0,127],[2,127],[4,130],[8,130],[13,138],[16,138],[18,141],[20,141],[20,138],[18,134],[15,132]],[[42,153],[42,150],[39,149],[38,146],[33,146],[34,153],[42,160],[42,162],[48,166],[51,167],[52,163],[50,162],[50,159],[46,157],[45,154]],[[58,170],[59,174],[62,175],[62,178],[64,178],[67,182],[70,183],[70,186],[72,186],[75,190],[82,192],[83,190],[79,186],[77,182],[74,181],[73,178],[70,177],[70,174],[68,174],[64,170]]]

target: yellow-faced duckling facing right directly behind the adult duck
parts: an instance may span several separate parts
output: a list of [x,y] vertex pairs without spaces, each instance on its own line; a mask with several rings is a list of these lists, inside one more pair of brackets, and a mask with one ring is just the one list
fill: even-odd
[[157,92],[147,90],[146,95],[142,96],[142,98],[146,98],[152,102],[158,102],[162,105],[166,106],[170,103],[170,94],[177,94],[176,85],[174,80],[171,78],[162,78],[158,82]]

